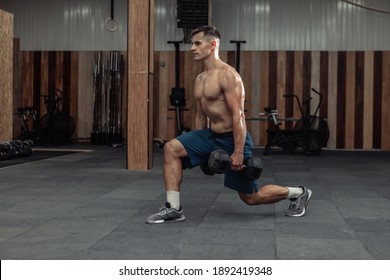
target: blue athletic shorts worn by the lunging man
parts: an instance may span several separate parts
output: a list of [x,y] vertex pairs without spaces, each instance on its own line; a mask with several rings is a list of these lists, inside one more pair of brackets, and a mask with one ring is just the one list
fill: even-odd
[[[234,151],[233,132],[214,133],[211,129],[193,130],[176,138],[184,146],[188,157],[182,159],[183,169],[193,168],[206,162],[212,151],[225,150],[231,155]],[[247,132],[244,145],[244,159],[252,157],[253,142]],[[248,180],[240,172],[225,173],[224,185],[242,193],[254,193],[259,190],[257,181]]]

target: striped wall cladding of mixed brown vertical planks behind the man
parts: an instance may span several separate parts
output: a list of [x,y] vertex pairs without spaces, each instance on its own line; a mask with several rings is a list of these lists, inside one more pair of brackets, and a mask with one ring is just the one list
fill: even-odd
[[[77,119],[76,138],[89,137],[91,55],[93,57],[92,53],[86,52],[21,52],[21,105],[40,105],[41,113],[44,113],[39,95],[47,92],[51,85],[67,88],[70,91],[67,106]],[[266,144],[266,129],[271,127],[268,122],[258,119],[264,107],[276,106],[281,117],[298,118],[296,102],[286,100],[282,95],[294,93],[300,99],[310,94],[314,97],[310,88],[318,86],[324,95],[320,115],[327,119],[330,128],[328,148],[390,150],[389,56],[389,51],[242,52],[246,117],[250,119],[248,129],[255,145]],[[202,71],[202,64],[194,62],[190,52],[182,52],[180,57],[180,85],[185,88],[188,109],[182,112],[182,119],[185,127],[193,129],[196,113],[193,83]],[[234,64],[234,52],[221,52],[221,58]],[[177,133],[175,111],[171,110],[169,101],[171,88],[175,85],[174,52],[156,52],[154,71],[153,137],[169,140]]]

